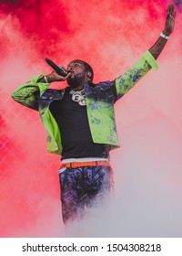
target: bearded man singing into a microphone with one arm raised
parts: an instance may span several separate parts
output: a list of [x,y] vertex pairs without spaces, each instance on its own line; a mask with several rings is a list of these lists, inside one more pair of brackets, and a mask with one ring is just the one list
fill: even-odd
[[[173,32],[176,11],[167,8],[165,29],[157,42],[125,74],[113,81],[94,84],[93,69],[76,59],[66,76],[56,71],[40,75],[17,88],[15,101],[39,111],[47,131],[47,150],[61,155],[59,170],[62,215],[67,220],[82,215],[96,198],[105,197],[112,185],[109,151],[119,146],[114,103],[129,91],[149,69]],[[67,81],[65,90],[48,89],[51,82]]]

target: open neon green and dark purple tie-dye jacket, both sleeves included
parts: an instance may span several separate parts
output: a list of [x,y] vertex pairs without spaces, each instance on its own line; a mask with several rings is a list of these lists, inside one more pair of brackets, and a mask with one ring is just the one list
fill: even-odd
[[[110,149],[119,146],[116,133],[114,103],[129,91],[151,68],[157,69],[157,62],[149,51],[136,64],[113,81],[97,84],[86,82],[86,112],[92,138],[96,144],[106,144]],[[65,90],[48,89],[49,83],[37,82],[39,75],[18,87],[12,97],[15,101],[40,113],[47,132],[47,151],[61,155],[61,135],[55,118],[49,110],[52,101],[61,100]],[[116,86],[116,99],[111,87]]]

